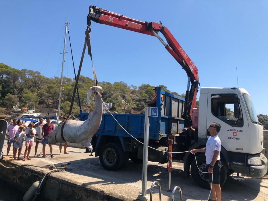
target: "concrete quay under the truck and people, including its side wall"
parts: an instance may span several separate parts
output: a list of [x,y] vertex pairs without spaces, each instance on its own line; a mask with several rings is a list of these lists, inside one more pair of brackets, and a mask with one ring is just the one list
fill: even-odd
[[[25,147],[25,146],[24,146]],[[23,147],[23,151],[24,151]],[[4,147],[6,154],[7,145]],[[63,152],[62,147],[62,152]],[[117,171],[106,171],[99,162],[99,157],[84,153],[85,149],[68,147],[70,154],[59,155],[59,146],[53,145],[54,158],[42,156],[42,146],[38,146],[38,157],[33,158],[34,146],[30,158],[26,161],[12,161],[11,158],[4,159],[2,163],[6,166],[17,166],[32,164],[48,167],[51,164],[60,165],[70,162],[66,171],[52,173],[45,179],[41,194],[37,200],[136,200],[141,194],[142,166],[129,161],[126,167]],[[46,148],[49,154],[49,146]],[[12,154],[12,150],[10,152]],[[24,192],[30,188],[32,183],[40,181],[50,170],[21,166],[7,169],[0,166],[1,182],[8,182],[15,188]],[[168,189],[167,164],[148,163],[147,195],[153,181],[159,181],[162,190],[162,200],[171,200]],[[204,190],[196,185],[191,177],[183,178],[183,163],[173,163],[171,174],[171,189],[179,185],[182,188],[183,200],[198,201],[206,200],[209,190]],[[158,188],[154,187],[153,200],[158,200]],[[268,179],[245,178],[236,181],[228,178],[222,189],[222,200],[267,200]],[[179,194],[175,194],[175,200],[179,200]]]

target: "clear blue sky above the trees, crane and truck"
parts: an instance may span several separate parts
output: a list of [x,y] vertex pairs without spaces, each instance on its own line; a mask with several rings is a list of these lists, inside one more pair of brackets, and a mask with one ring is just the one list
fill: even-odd
[[[76,72],[88,7],[96,5],[137,20],[165,25],[198,68],[201,87],[236,87],[251,95],[257,113],[268,114],[268,1],[1,1],[0,62],[17,69],[60,76],[64,22]],[[187,76],[156,37],[91,24],[99,82],[163,84],[184,93]],[[70,45],[64,76],[73,78]],[[67,51],[67,49],[66,49]],[[85,55],[81,75],[93,78]]]

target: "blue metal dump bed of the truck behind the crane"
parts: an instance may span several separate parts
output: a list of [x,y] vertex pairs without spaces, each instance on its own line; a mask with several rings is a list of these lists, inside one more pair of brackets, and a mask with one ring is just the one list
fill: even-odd
[[[149,139],[160,140],[170,134],[179,134],[184,127],[182,119],[184,98],[176,96],[158,88],[157,107],[158,117],[150,117]],[[163,101],[161,95],[163,94]],[[135,138],[143,138],[144,114],[113,114],[116,120]],[[79,119],[85,121],[88,113],[80,112]],[[110,113],[103,114],[101,125],[96,135],[131,137],[116,123]]]

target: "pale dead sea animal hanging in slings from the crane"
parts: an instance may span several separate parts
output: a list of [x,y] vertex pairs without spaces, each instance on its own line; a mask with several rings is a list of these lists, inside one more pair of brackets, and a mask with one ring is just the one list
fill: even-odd
[[[65,122],[63,127],[63,138],[66,142],[82,144],[86,148],[92,150],[90,138],[92,138],[99,129],[102,119],[103,109],[101,92],[102,88],[100,86],[93,86],[89,88],[87,100],[90,102],[90,97],[95,94],[96,105],[94,111],[89,113],[86,121],[70,119]],[[53,132],[51,132],[51,134],[48,135],[48,144],[65,142],[61,137],[62,126],[63,124],[59,125]]]

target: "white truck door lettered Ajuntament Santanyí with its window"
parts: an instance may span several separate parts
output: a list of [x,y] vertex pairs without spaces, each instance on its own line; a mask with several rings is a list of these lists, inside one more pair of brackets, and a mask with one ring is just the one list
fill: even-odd
[[213,122],[219,123],[221,145],[227,151],[248,153],[249,127],[241,100],[238,92],[209,92],[207,127]]

